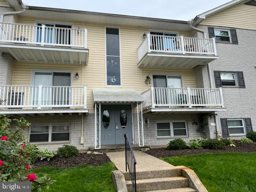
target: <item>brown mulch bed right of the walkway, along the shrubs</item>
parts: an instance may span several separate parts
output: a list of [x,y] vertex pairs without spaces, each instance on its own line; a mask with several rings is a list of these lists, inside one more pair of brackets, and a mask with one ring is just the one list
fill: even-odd
[[256,143],[253,144],[240,144],[239,141],[234,141],[236,147],[226,147],[222,150],[214,149],[184,149],[184,150],[167,150],[166,148],[153,148],[145,153],[154,157],[174,157],[182,155],[192,155],[201,153],[221,153],[221,152],[256,152]]

